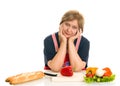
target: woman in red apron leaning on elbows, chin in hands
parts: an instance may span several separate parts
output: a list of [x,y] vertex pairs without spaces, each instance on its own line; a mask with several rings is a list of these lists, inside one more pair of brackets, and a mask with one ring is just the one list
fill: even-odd
[[82,36],[83,16],[76,10],[66,12],[59,31],[44,39],[45,69],[60,71],[63,66],[72,66],[74,71],[87,67],[90,42]]

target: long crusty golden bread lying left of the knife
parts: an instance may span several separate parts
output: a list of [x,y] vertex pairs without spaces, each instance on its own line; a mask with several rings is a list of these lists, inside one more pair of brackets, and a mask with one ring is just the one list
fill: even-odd
[[5,81],[15,85],[32,80],[37,80],[43,78],[44,76],[45,74],[42,71],[26,72],[8,77]]

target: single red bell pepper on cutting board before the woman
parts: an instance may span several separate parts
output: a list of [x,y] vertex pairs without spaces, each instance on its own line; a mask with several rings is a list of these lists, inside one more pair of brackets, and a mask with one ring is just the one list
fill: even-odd
[[60,70],[61,75],[63,76],[72,76],[73,70],[71,66],[65,66]]

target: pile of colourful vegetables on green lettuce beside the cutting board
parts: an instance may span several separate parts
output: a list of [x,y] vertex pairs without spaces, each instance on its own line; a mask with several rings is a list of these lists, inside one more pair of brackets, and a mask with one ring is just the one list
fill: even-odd
[[85,82],[110,82],[115,79],[115,74],[112,73],[109,67],[99,69],[97,67],[88,67],[84,77]]

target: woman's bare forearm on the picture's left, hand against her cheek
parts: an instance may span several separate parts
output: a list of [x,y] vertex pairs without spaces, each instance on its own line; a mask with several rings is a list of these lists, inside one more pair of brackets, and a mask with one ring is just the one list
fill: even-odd
[[66,55],[66,47],[67,47],[67,39],[62,33],[62,28],[59,31],[59,40],[60,40],[60,47],[57,51],[57,54],[53,57],[52,60],[48,61],[48,66],[51,70],[58,72],[61,67],[63,66],[65,55]]

